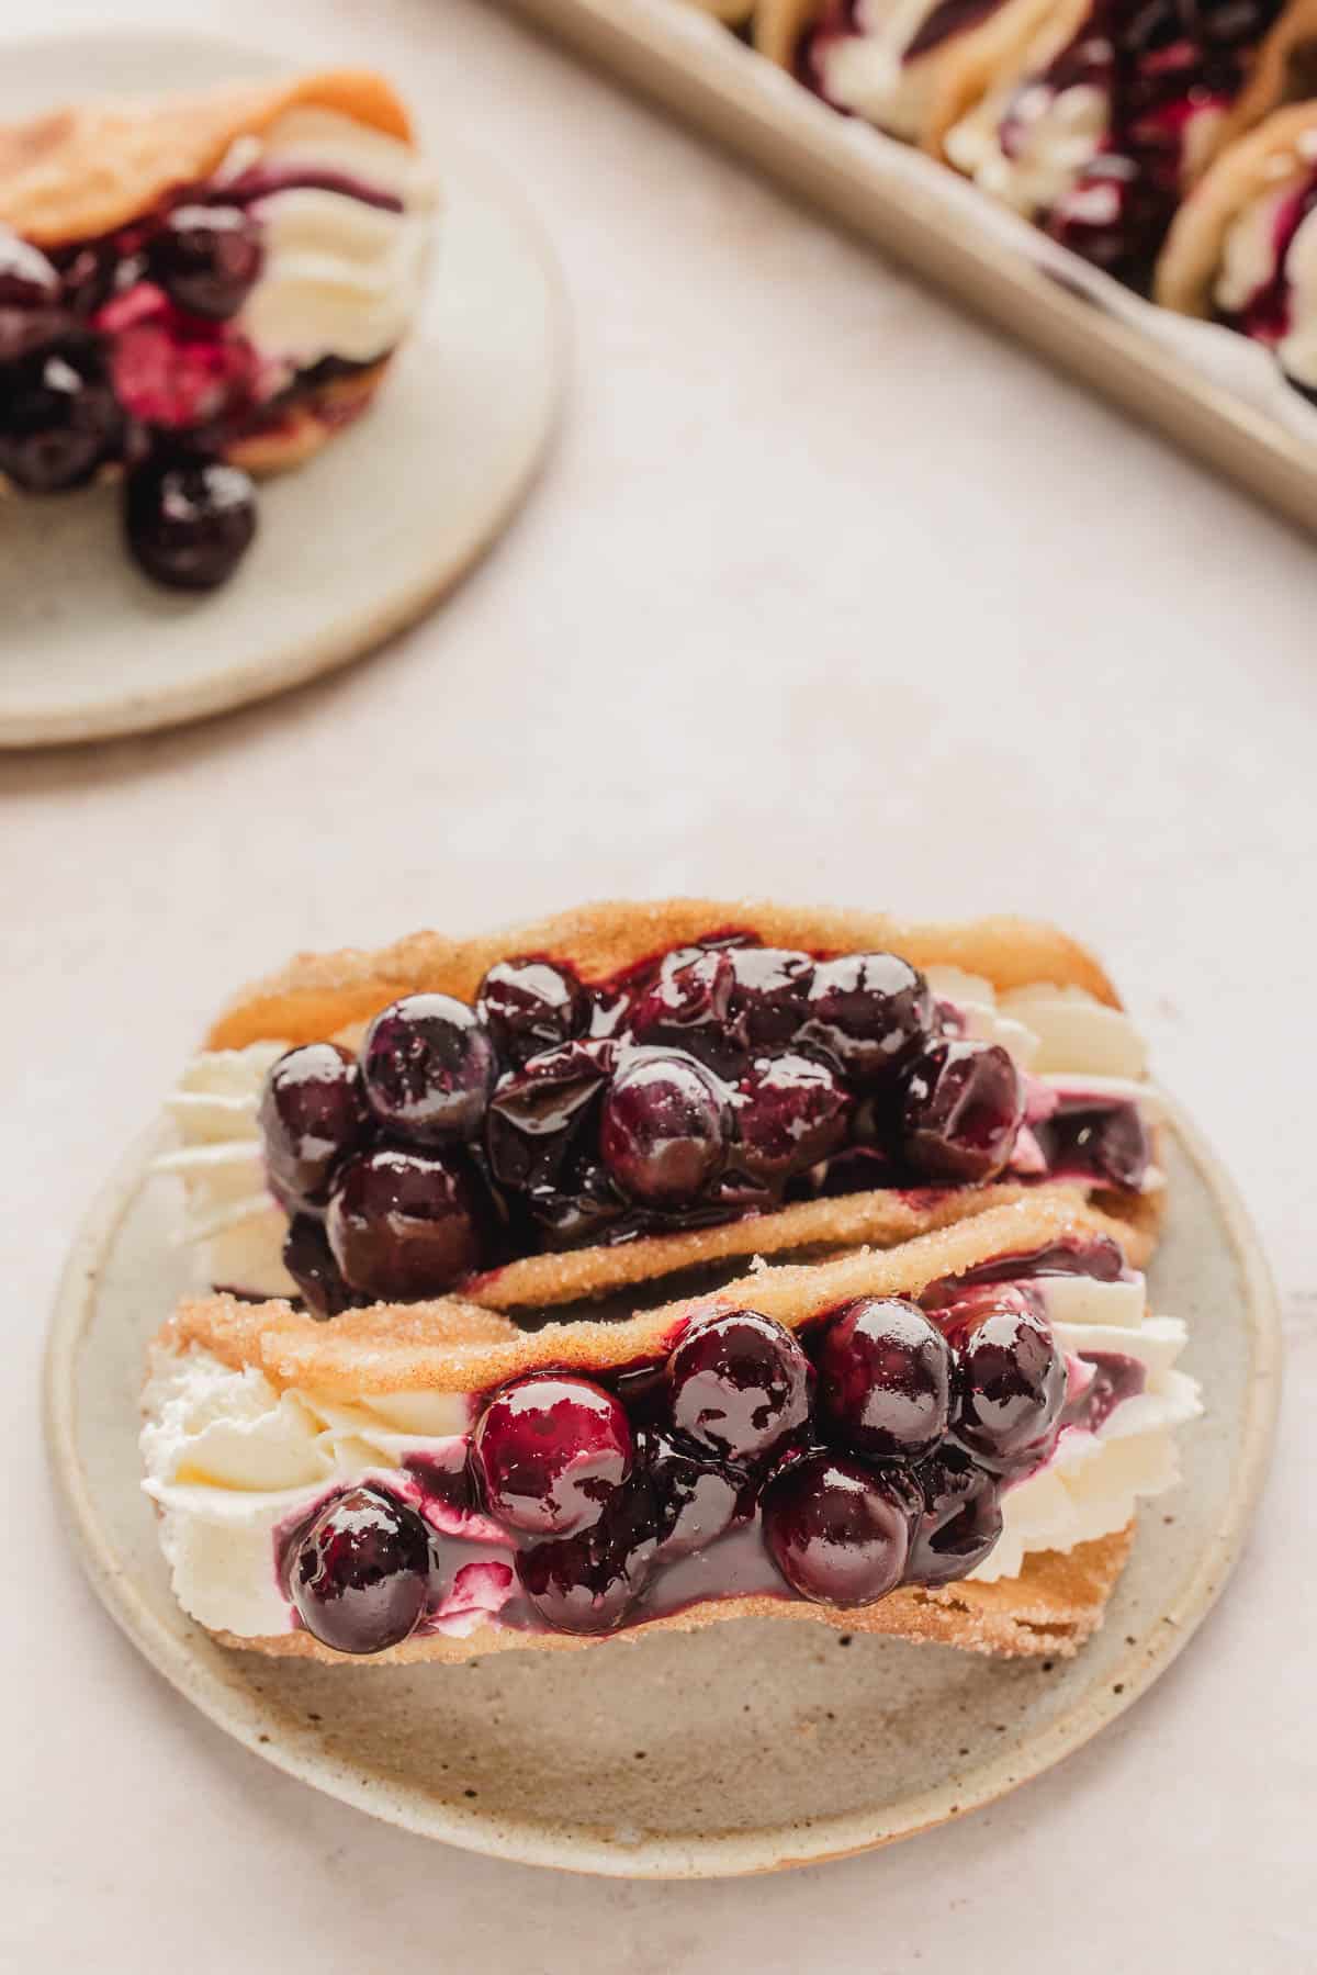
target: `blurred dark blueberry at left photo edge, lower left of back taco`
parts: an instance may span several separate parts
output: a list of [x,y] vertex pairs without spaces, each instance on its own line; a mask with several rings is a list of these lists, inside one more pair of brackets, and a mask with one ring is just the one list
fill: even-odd
[[83,486],[120,433],[115,393],[89,340],[67,336],[0,369],[0,474],[24,494]]

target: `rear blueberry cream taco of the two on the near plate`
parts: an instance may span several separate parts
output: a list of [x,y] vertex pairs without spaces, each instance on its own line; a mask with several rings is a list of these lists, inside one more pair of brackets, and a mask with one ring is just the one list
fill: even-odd
[[213,1025],[162,1163],[207,1286],[543,1309],[1041,1187],[1151,1230],[1143,1070],[1102,968],[1046,926],[598,905],[300,956]]

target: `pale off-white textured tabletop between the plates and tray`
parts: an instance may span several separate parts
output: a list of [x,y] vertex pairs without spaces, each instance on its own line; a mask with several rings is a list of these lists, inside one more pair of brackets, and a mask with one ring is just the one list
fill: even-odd
[[[523,178],[575,403],[502,551],[373,662],[0,764],[0,1965],[1309,1971],[1311,549],[474,0],[201,14],[377,59]],[[0,0],[0,30],[36,26]],[[65,1550],[36,1381],[69,1228],[235,982],[677,889],[1084,932],[1262,1223],[1289,1398],[1222,1608],[1064,1770],[887,1855],[626,1886],[428,1847],[209,1728]]]

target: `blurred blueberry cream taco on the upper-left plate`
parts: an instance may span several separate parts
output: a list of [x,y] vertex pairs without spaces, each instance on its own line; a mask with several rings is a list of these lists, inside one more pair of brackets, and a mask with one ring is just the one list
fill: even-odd
[[377,391],[434,203],[407,111],[359,71],[0,126],[0,488],[122,476],[138,565],[225,581],[249,474]]

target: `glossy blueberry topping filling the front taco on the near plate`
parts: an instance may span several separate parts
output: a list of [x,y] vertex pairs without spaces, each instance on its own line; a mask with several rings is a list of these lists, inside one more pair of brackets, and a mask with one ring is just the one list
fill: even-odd
[[[1090,1260],[1112,1280],[1104,1248]],[[1027,1280],[934,1305],[863,1298],[796,1333],[713,1305],[652,1361],[517,1379],[474,1402],[470,1434],[276,1531],[296,1621],[369,1653],[488,1618],[610,1633],[707,1598],[849,1610],[964,1578],[1005,1489],[1145,1369],[1066,1361]]]

